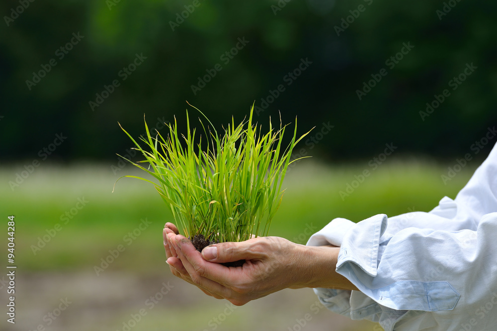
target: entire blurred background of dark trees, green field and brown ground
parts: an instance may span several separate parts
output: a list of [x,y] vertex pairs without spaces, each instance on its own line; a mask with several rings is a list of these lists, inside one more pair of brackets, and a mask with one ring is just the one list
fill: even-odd
[[171,214],[153,187],[111,193],[136,174],[116,153],[139,160],[118,122],[133,136],[144,115],[184,129],[186,109],[198,116],[188,102],[219,128],[252,104],[263,128],[315,127],[270,232],[297,243],[335,217],[428,211],[497,141],[496,12],[486,0],[2,1],[0,240],[14,215],[17,315],[1,330],[380,330],[319,308],[310,289],[232,309],[173,278]]

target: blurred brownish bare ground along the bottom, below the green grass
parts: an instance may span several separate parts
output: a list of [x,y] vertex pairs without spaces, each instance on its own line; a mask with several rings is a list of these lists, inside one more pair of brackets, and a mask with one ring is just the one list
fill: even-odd
[[[236,307],[208,297],[168,271],[148,275],[93,270],[16,278],[15,325],[23,331],[380,331],[323,308],[311,289],[283,290]],[[5,290],[5,286],[1,289]],[[5,307],[6,295],[1,296]]]

